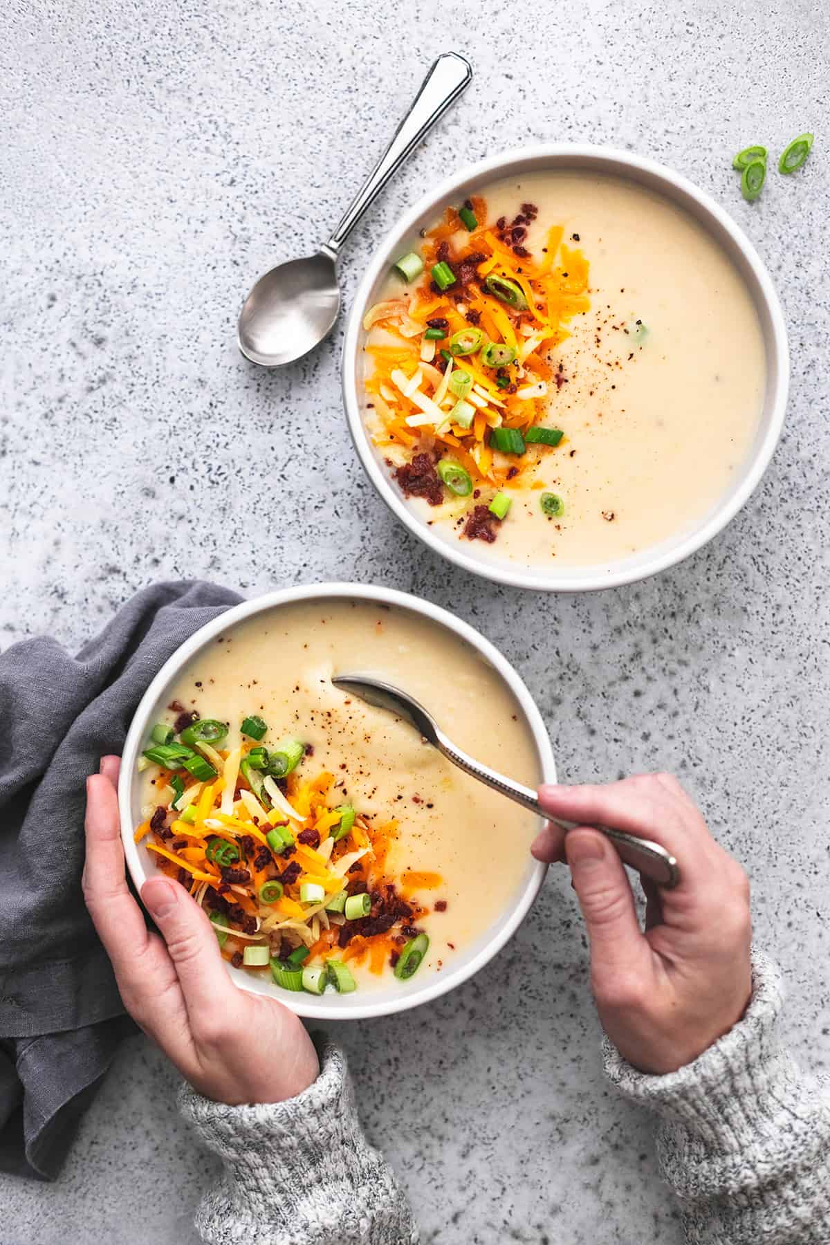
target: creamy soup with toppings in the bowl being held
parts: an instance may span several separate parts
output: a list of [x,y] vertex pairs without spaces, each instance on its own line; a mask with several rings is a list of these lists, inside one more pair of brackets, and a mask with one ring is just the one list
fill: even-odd
[[404,688],[473,756],[540,778],[499,675],[417,614],[285,605],[203,649],[146,742],[136,837],[225,959],[314,994],[398,989],[487,939],[528,878],[535,820],[337,674]]

